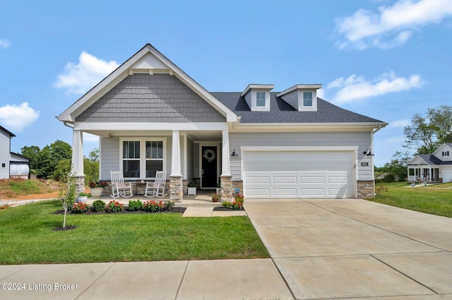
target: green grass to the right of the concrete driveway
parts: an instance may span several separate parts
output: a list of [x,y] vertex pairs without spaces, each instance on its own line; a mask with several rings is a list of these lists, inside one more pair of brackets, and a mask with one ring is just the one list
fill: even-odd
[[371,200],[386,205],[452,217],[452,183],[411,188],[408,184],[376,184],[388,188]]

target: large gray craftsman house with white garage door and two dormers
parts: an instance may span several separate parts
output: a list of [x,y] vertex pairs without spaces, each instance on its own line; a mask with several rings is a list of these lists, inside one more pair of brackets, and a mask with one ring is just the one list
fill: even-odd
[[189,181],[220,182],[222,200],[374,196],[373,136],[383,121],[316,97],[319,84],[282,92],[250,84],[208,92],[146,44],[58,119],[73,129],[73,171],[83,183],[83,133],[100,137],[100,180],[167,171],[169,197]]

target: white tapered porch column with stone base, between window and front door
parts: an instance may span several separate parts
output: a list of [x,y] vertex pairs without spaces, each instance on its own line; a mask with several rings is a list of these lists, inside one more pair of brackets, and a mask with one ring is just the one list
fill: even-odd
[[181,170],[179,131],[172,131],[171,174],[169,175],[169,200],[180,202],[184,193]]

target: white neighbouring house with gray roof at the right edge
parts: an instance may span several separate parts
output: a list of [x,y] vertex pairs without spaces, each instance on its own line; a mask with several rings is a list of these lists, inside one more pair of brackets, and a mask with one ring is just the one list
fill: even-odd
[[418,154],[408,162],[409,182],[452,181],[452,143],[444,143],[431,155]]

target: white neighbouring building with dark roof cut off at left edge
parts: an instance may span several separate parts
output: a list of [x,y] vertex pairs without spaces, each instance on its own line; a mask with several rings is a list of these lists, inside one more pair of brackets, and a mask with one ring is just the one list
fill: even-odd
[[0,126],[0,179],[20,177],[28,179],[30,160],[20,154],[11,152],[11,138],[14,133]]

